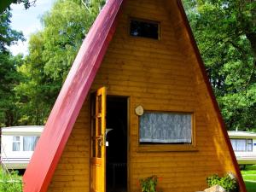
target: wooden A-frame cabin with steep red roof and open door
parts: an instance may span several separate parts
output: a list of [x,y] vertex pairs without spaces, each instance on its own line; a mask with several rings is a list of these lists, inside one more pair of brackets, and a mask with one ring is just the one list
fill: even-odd
[[49,115],[24,191],[136,192],[140,178],[156,175],[163,192],[193,192],[226,172],[246,191],[181,2],[108,0]]

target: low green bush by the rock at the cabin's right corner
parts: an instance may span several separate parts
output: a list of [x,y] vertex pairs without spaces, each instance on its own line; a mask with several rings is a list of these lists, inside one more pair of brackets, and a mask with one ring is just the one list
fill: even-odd
[[236,178],[231,178],[230,175],[225,175],[224,177],[218,177],[218,174],[214,174],[207,177],[207,184],[209,187],[214,185],[222,186],[227,192],[238,192],[239,187],[236,182]]

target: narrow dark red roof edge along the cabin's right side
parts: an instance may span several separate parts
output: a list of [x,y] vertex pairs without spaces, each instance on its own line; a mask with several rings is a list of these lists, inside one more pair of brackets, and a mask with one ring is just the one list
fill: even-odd
[[184,21],[186,29],[187,29],[187,31],[189,33],[189,40],[190,40],[191,44],[193,45],[193,49],[195,50],[195,55],[196,55],[196,58],[197,58],[197,61],[198,61],[199,65],[200,65],[201,73],[203,74],[203,78],[204,78],[204,82],[207,84],[207,90],[208,90],[208,92],[209,92],[209,94],[211,96],[213,108],[215,109],[215,111],[217,113],[218,121],[219,121],[219,123],[221,125],[221,129],[222,129],[222,131],[224,133],[225,143],[228,145],[228,148],[229,148],[229,151],[230,151],[230,156],[231,156],[233,165],[235,166],[235,169],[236,169],[236,174],[237,174],[237,180],[238,180],[238,183],[239,183],[239,187],[241,189],[241,192],[246,192],[247,189],[246,189],[245,183],[243,182],[243,179],[241,177],[241,172],[240,172],[237,160],[236,160],[236,155],[235,155],[235,153],[233,151],[232,145],[230,143],[230,137],[229,137],[228,132],[227,132],[227,130],[225,128],[225,125],[224,125],[224,119],[222,118],[220,109],[218,107],[217,99],[216,99],[216,97],[215,97],[215,95],[213,93],[212,85],[210,84],[209,78],[207,77],[206,67],[204,65],[204,62],[201,59],[200,51],[199,51],[199,49],[197,47],[197,44],[195,42],[195,37],[194,37],[193,32],[191,30],[191,27],[189,25],[189,20],[188,20],[188,18],[186,16],[185,10],[183,8],[183,3],[181,2],[181,0],[177,0],[177,5],[178,5],[178,7],[179,7],[179,9],[181,11],[181,15],[183,17],[183,21]]

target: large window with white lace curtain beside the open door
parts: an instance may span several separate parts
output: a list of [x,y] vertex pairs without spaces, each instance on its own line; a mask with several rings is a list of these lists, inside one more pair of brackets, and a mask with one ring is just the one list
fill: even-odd
[[139,122],[140,143],[192,143],[191,113],[144,113]]

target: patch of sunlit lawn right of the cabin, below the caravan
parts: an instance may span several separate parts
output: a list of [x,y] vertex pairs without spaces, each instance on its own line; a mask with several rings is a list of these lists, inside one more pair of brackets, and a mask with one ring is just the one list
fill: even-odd
[[241,171],[241,175],[246,184],[247,192],[256,192],[256,165],[246,166],[246,169]]

